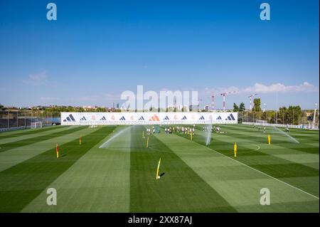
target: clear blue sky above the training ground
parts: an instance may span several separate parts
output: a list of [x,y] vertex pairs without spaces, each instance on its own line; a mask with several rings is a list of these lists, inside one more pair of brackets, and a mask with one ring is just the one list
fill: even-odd
[[[46,5],[58,7],[48,21]],[[260,4],[271,20],[260,20]],[[0,1],[0,103],[102,105],[198,90],[267,109],[319,102],[319,1]],[[215,100],[222,107],[222,98]]]

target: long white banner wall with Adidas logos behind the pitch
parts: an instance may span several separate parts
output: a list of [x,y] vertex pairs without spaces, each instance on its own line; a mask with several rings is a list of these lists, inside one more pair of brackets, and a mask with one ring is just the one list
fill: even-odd
[[61,112],[61,125],[238,124],[238,112]]

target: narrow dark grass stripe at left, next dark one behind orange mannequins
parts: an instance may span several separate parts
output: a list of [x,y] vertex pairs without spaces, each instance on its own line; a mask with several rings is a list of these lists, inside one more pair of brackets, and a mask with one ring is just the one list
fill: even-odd
[[26,146],[29,144],[34,144],[36,142],[40,142],[46,139],[52,139],[54,137],[60,137],[63,134],[70,134],[73,132],[77,132],[79,130],[83,130],[85,128],[85,126],[82,127],[74,127],[71,128],[70,130],[63,130],[63,131],[59,131],[59,132],[54,132],[54,133],[50,133],[50,134],[44,134],[44,135],[39,135],[38,137],[32,137],[32,138],[28,138],[28,139],[21,139],[15,142],[9,142],[6,144],[0,144],[0,152],[6,152],[9,149],[14,149],[16,147],[22,147],[22,146]]

